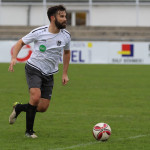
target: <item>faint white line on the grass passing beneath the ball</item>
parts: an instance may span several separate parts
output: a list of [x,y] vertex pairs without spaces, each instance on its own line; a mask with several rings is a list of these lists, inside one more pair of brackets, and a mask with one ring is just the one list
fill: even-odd
[[[126,140],[126,139],[137,139],[137,138],[141,138],[141,137],[145,137],[145,136],[150,136],[150,134],[131,136],[131,137],[127,137],[127,138],[120,138],[120,139],[117,139],[117,140],[114,140],[114,141],[122,141],[122,140]],[[95,141],[95,142],[89,142],[89,143],[81,143],[81,144],[72,145],[72,146],[68,146],[68,147],[53,148],[53,149],[48,149],[48,150],[69,150],[69,149],[74,149],[74,148],[77,148],[77,147],[84,147],[84,146],[98,144],[100,142],[101,141]]]

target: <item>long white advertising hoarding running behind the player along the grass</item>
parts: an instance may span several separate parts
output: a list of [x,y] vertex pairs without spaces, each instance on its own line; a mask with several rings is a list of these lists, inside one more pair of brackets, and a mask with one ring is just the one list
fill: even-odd
[[[10,62],[17,41],[0,41],[0,62]],[[18,55],[25,62],[33,51],[33,43]],[[60,59],[62,62],[62,59]],[[80,64],[150,64],[149,42],[72,41],[70,63]]]

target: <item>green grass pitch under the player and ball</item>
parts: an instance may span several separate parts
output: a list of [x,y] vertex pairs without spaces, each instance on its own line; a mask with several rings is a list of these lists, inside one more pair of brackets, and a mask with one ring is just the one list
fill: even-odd
[[[13,102],[29,100],[24,64],[13,73],[8,65],[0,64],[0,150],[149,150],[149,65],[71,64],[67,86],[60,65],[50,107],[36,115],[37,139],[24,136],[24,112],[8,123]],[[112,128],[107,142],[93,138],[98,122]]]

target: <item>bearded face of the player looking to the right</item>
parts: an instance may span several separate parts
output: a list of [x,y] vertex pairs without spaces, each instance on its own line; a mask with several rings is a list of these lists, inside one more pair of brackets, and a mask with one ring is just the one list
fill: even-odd
[[58,29],[64,29],[67,25],[66,12],[58,11],[55,16],[55,25]]

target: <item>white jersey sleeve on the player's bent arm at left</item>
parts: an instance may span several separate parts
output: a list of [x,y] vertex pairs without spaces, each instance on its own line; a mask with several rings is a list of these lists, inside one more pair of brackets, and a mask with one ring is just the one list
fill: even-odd
[[36,32],[34,31],[31,31],[30,33],[28,33],[27,35],[25,35],[23,38],[22,38],[22,41],[25,43],[25,44],[29,44],[29,43],[32,43],[36,40],[37,38],[37,35],[36,35]]

